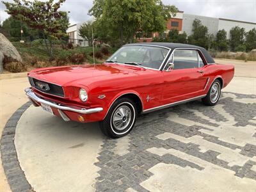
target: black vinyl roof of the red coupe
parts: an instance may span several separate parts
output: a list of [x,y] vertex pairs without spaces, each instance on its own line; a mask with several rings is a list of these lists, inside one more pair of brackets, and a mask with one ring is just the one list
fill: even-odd
[[165,43],[165,42],[151,42],[151,43],[136,43],[136,44],[127,44],[127,45],[155,45],[155,46],[162,46],[162,47],[168,47],[170,49],[177,49],[177,48],[184,48],[184,49],[199,49],[202,54],[204,54],[205,60],[207,63],[215,63],[211,55],[209,54],[206,49],[203,47],[199,47],[196,45],[189,45],[189,44],[175,44],[175,43]]

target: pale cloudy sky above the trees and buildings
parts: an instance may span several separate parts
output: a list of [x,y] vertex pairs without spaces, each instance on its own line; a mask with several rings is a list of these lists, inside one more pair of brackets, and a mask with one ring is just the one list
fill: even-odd
[[[12,0],[5,0],[12,1]],[[256,22],[256,0],[162,0],[164,4],[174,4],[180,11],[193,15],[218,17],[225,19]],[[70,24],[92,19],[88,10],[93,0],[66,0],[61,10],[68,13]],[[0,3],[0,20],[3,22],[9,15],[3,3]]]

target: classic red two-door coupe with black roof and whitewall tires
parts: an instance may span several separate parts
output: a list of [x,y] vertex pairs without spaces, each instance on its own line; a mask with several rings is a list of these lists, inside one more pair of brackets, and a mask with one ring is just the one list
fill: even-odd
[[172,43],[124,45],[101,65],[37,68],[26,95],[63,120],[100,122],[111,138],[131,131],[140,113],[202,99],[214,106],[234,76],[202,47]]

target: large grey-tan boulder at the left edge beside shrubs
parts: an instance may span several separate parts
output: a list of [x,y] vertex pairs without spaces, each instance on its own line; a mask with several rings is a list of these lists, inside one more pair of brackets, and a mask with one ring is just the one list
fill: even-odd
[[17,49],[8,40],[8,38],[0,33],[0,73],[3,72],[3,60],[6,56],[12,58],[12,60],[22,62],[22,58]]

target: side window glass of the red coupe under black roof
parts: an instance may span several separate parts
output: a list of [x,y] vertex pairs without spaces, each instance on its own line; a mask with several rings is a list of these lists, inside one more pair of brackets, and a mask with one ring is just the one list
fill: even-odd
[[204,62],[196,50],[175,50],[173,52],[174,69],[203,67]]

